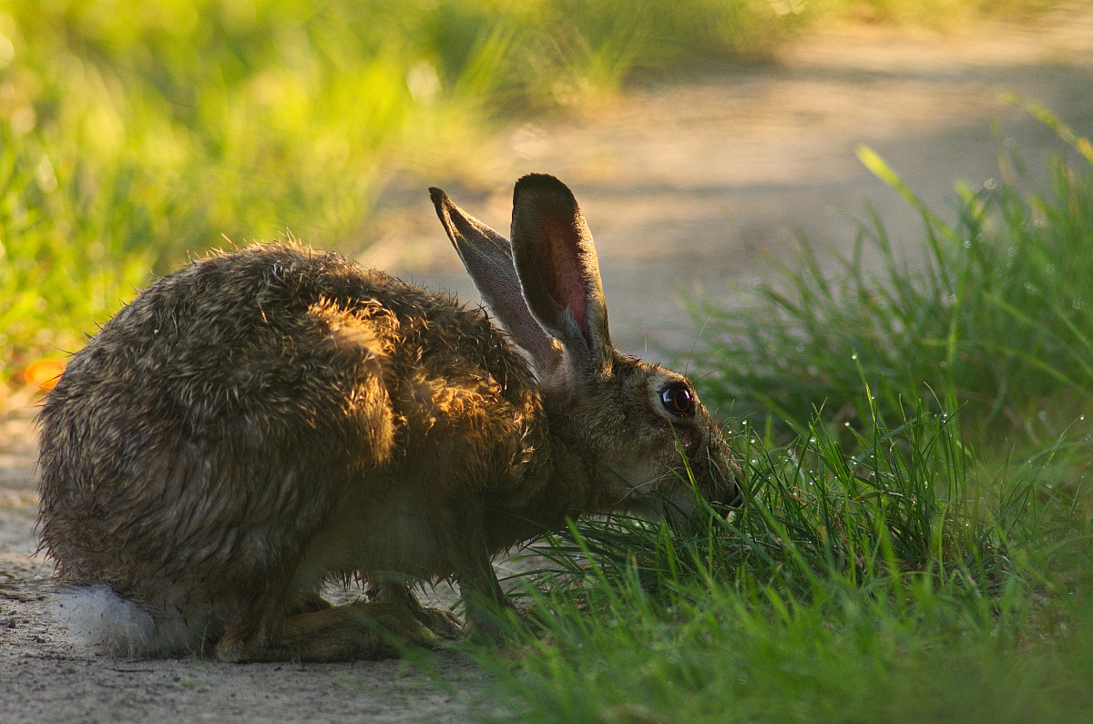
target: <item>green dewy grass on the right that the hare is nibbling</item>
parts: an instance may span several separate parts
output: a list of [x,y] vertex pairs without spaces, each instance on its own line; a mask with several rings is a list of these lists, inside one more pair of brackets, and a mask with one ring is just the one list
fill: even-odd
[[807,272],[755,305],[702,308],[703,394],[750,413],[732,434],[748,504],[546,536],[538,627],[478,652],[510,721],[1093,721],[1076,303],[1093,153],[1032,110],[1080,152],[1050,192],[1014,165],[961,189],[950,227],[862,150],[922,211],[924,264],[896,262],[874,219],[879,278],[857,255],[824,278],[804,247]]

